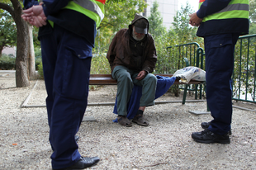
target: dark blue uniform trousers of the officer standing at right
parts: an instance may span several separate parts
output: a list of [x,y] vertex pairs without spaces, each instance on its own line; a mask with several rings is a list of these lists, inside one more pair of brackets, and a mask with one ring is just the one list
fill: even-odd
[[235,44],[239,34],[208,35],[204,37],[206,50],[206,99],[211,116],[208,128],[225,135],[232,118],[231,75],[234,68]]

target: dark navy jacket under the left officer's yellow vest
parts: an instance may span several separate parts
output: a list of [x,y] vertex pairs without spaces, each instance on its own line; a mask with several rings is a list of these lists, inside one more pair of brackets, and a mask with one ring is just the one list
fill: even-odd
[[[44,12],[47,20],[54,21],[55,24],[64,27],[65,29],[83,36],[88,40],[92,46],[94,46],[95,36],[97,34],[96,22],[91,18],[83,15],[80,12],[75,12],[69,9],[63,9],[70,0],[44,0]],[[37,0],[24,0],[24,8],[27,9],[33,5],[38,5]],[[40,36],[49,34],[52,31],[52,27],[48,23],[46,26],[40,27]],[[92,32],[93,34],[88,34]]]

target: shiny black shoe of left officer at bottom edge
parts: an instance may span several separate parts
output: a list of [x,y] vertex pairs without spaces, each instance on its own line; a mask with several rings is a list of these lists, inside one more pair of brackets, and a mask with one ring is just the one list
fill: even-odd
[[89,168],[95,165],[96,163],[98,163],[99,161],[100,161],[100,158],[98,157],[92,157],[92,158],[81,157],[80,160],[78,160],[77,163],[74,163],[71,167],[62,168],[58,170],[78,170],[78,169]]

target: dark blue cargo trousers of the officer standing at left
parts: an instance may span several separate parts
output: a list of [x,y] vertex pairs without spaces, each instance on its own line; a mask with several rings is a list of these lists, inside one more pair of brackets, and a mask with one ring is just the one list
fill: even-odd
[[52,168],[66,168],[81,156],[74,136],[88,104],[92,45],[57,25],[52,33],[40,37],[40,43]]

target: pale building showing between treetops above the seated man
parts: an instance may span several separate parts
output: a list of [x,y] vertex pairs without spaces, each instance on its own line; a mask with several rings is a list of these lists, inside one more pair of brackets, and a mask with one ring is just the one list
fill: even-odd
[[145,0],[148,3],[148,7],[145,9],[144,16],[150,16],[150,8],[153,7],[154,1],[159,3],[159,12],[163,17],[163,25],[169,29],[173,23],[173,17],[178,11],[178,0]]

